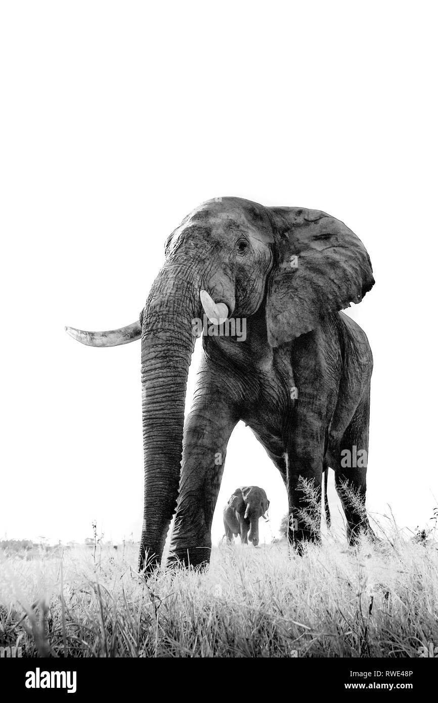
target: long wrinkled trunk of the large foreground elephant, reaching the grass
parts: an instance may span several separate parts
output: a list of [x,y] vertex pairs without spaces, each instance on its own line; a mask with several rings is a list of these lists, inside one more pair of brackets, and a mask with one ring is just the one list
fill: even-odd
[[195,346],[191,321],[200,317],[199,290],[198,280],[183,278],[181,266],[166,264],[143,312],[145,484],[139,567],[148,571],[160,562],[178,495],[186,384]]

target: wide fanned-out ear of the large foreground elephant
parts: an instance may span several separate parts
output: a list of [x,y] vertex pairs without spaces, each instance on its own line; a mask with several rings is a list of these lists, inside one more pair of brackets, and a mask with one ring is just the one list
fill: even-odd
[[361,240],[326,212],[271,207],[277,262],[266,297],[272,347],[314,330],[324,316],[360,302],[374,284]]

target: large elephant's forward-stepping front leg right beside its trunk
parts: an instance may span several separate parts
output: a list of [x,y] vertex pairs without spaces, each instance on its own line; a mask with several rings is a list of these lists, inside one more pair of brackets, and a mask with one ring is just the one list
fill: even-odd
[[226,446],[237,418],[217,389],[198,386],[184,427],[179,497],[169,560],[186,566],[210,561],[212,520],[221,486]]

